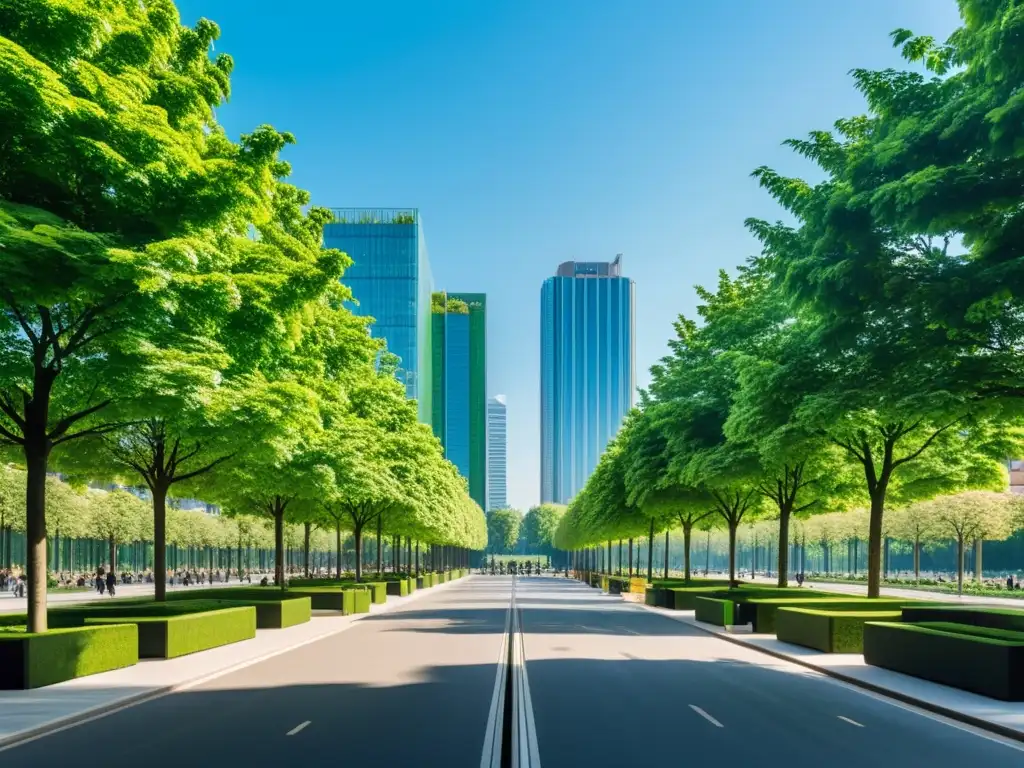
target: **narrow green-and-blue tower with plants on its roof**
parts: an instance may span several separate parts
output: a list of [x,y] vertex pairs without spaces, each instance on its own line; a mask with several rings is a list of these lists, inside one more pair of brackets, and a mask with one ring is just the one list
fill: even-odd
[[487,493],[486,317],[482,293],[433,295],[430,424],[481,508]]

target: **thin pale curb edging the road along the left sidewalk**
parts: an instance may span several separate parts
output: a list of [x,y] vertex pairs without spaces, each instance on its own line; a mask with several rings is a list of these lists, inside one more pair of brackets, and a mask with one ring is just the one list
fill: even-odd
[[[468,577],[469,574],[467,573],[466,578]],[[463,580],[457,579],[452,582],[445,582],[444,584],[439,584],[437,585],[437,587],[441,588],[447,587],[449,585],[456,584],[457,582],[461,581]],[[437,587],[431,587],[430,589],[436,590]],[[427,594],[433,595],[436,594],[436,592],[434,591],[428,592],[425,589],[417,590],[412,595],[408,595],[407,597],[403,598],[407,602],[402,603],[401,606],[398,606],[397,603],[391,603],[391,606],[403,607],[408,605],[409,602],[415,600],[417,595],[427,595]],[[138,693],[132,693],[120,699],[119,701],[114,702],[113,705],[110,703],[96,705],[95,707],[90,707],[89,709],[83,710],[82,712],[76,712],[73,715],[66,715],[65,717],[57,718],[56,720],[51,720],[48,723],[37,725],[33,728],[18,731],[17,733],[12,733],[9,736],[0,736],[0,753],[6,752],[7,750],[13,749],[14,746],[26,743],[28,741],[35,741],[38,738],[43,738],[44,736],[48,736],[53,733],[58,733],[59,731],[68,730],[69,728],[74,728],[79,725],[84,725],[85,723],[91,722],[93,720],[99,720],[100,718],[104,718],[110,715],[115,715],[123,710],[128,710],[131,709],[132,707],[138,707],[141,703],[145,703],[146,701],[151,701],[155,698],[161,698],[162,696],[166,696],[169,693],[176,693],[177,691],[187,690],[188,688],[193,688],[197,685],[202,685],[203,683],[209,682],[210,680],[215,680],[218,677],[223,677],[224,675],[229,675],[232,672],[239,672],[240,670],[244,670],[247,667],[253,667],[262,662],[266,662],[267,659],[273,658],[274,656],[280,656],[285,653],[290,653],[291,651],[297,650],[298,648],[301,648],[305,645],[317,643],[321,640],[326,640],[329,637],[335,637],[336,635],[340,635],[341,633],[350,629],[353,625],[358,624],[368,616],[380,615],[381,613],[390,612],[393,609],[394,607],[388,607],[388,604],[384,603],[384,607],[382,607],[380,610],[376,612],[354,614],[355,617],[351,622],[349,622],[344,627],[335,632],[327,632],[317,637],[311,637],[306,640],[303,640],[300,643],[289,645],[286,648],[279,648],[276,650],[268,651],[263,655],[256,656],[255,658],[250,658],[245,662],[240,662],[239,664],[232,665],[230,667],[225,667],[224,669],[217,670],[216,672],[210,672],[207,673],[206,675],[200,675],[199,677],[190,678],[188,680],[182,680],[177,683],[171,683],[170,685],[162,685],[156,688],[152,688],[151,690],[139,691]]]

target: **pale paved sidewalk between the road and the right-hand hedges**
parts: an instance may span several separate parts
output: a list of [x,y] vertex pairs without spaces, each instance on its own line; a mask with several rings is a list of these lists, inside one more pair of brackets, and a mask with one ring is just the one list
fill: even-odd
[[987,698],[881,667],[871,667],[864,664],[864,657],[859,653],[822,653],[813,648],[779,642],[774,635],[728,633],[722,627],[697,622],[692,610],[671,610],[643,604],[639,607],[717,635],[727,642],[760,650],[887,698],[1024,741],[1024,702]]

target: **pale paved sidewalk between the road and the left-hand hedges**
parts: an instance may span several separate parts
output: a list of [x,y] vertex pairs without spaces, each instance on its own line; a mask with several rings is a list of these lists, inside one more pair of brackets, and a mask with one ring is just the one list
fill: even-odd
[[0,691],[0,751],[61,726],[183,690],[337,635],[365,616],[400,609],[423,595],[436,594],[457,582],[417,590],[409,597],[389,596],[386,603],[371,605],[370,613],[337,616],[314,611],[312,620],[306,624],[285,630],[258,630],[252,640],[201,653],[169,659],[143,659],[135,667],[89,675],[44,688]]

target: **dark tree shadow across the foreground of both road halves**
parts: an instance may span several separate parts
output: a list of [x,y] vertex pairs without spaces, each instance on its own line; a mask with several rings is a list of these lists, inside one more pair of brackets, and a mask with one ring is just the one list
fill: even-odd
[[[1020,765],[1019,753],[995,741],[770,666],[566,657],[527,658],[527,672],[541,759],[557,768]],[[393,682],[373,685],[275,685],[261,681],[258,668],[250,674],[241,684],[232,676],[236,687],[214,681],[0,752],[0,764],[110,762],[103,757],[146,768],[480,763],[494,665],[399,663]]]

